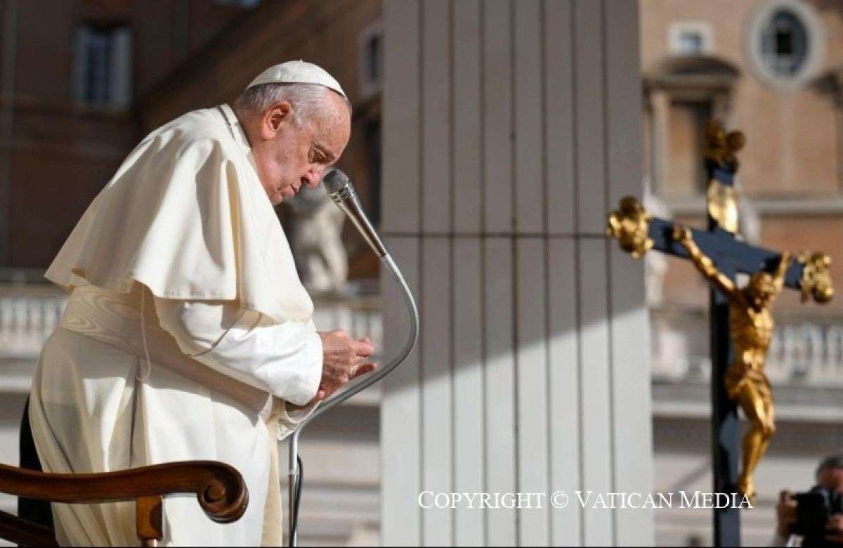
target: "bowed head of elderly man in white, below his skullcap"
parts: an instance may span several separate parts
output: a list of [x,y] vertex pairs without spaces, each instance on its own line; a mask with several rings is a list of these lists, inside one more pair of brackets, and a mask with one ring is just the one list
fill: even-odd
[[253,85],[233,106],[272,205],[319,185],[351,136],[351,105],[318,83]]

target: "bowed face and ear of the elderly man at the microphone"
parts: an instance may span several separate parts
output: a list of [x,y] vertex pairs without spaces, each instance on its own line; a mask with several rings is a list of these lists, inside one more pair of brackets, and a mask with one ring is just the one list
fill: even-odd
[[338,160],[351,135],[351,115],[338,94],[328,94],[325,116],[297,122],[287,102],[273,105],[260,119],[252,143],[260,183],[273,206],[295,196],[302,185],[315,187]]

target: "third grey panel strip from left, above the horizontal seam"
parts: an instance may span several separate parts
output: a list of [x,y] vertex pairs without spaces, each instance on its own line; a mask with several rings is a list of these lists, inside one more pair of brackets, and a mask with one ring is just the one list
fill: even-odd
[[454,230],[481,230],[480,2],[454,2]]

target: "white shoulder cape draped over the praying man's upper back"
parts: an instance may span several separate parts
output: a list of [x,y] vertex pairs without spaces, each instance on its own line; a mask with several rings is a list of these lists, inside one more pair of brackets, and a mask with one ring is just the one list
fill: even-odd
[[146,137],[91,202],[46,277],[68,290],[129,292],[137,281],[159,298],[237,300],[277,323],[313,314],[228,105],[195,110]]

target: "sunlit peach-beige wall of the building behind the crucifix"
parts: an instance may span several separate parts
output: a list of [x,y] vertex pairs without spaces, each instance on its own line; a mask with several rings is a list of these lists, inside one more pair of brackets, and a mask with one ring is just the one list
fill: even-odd
[[[824,250],[832,255],[837,287],[843,287],[843,207],[840,207],[843,131],[840,105],[821,83],[830,70],[843,67],[843,3],[833,0],[806,2],[819,15],[824,30],[824,59],[813,78],[799,89],[783,90],[765,83],[754,72],[746,52],[748,25],[760,2],[756,0],[642,0],[642,70],[652,72],[669,55],[668,29],[674,22],[711,24],[711,54],[740,70],[734,88],[731,126],[744,131],[747,147],[740,153],[739,184],[750,201],[758,204],[761,217],[760,243],[765,247]],[[688,125],[680,113],[671,114],[667,158],[668,174],[689,174],[688,158],[694,153]],[[699,186],[681,178],[669,183],[665,196],[694,194]],[[698,191],[697,191],[698,192]],[[697,195],[699,196],[699,194]],[[685,200],[685,204],[689,201]],[[694,215],[685,207],[674,208],[685,221],[704,223],[702,204]],[[668,300],[682,304],[706,303],[705,287],[692,276],[690,267],[671,261],[666,279]],[[798,298],[781,299],[783,306],[796,306]],[[843,309],[838,298],[827,313]],[[808,311],[808,309],[806,309]]]

